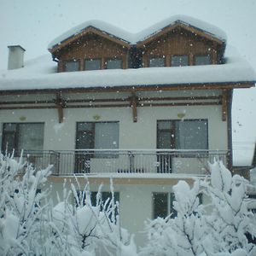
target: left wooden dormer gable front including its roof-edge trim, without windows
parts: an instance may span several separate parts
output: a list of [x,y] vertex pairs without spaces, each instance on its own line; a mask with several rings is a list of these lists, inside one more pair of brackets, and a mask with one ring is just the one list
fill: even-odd
[[100,59],[102,69],[110,58],[121,59],[123,68],[127,67],[127,51],[130,44],[107,32],[88,27],[83,32],[67,38],[49,51],[59,61],[58,71],[64,71],[65,61],[79,61],[79,70],[84,70],[84,60]]

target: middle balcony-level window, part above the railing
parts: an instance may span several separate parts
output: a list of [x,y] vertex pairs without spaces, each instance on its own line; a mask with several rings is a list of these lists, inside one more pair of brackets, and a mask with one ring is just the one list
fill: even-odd
[[119,148],[118,122],[83,122],[77,124],[77,149]]

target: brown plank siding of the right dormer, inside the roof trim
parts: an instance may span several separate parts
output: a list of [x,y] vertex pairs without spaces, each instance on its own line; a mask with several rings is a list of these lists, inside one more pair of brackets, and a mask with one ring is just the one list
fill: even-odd
[[189,65],[195,65],[195,55],[210,55],[212,63],[218,63],[218,44],[176,28],[160,38],[155,38],[143,47],[143,67],[148,67],[149,58],[164,57],[166,66],[171,66],[172,55],[189,55]]

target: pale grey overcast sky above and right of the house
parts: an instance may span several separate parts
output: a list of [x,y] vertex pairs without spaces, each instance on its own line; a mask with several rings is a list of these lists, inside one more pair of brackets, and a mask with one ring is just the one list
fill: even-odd
[[[256,0],[0,0],[0,69],[7,67],[8,45],[24,47],[26,60],[45,55],[50,41],[86,20],[139,32],[172,15],[220,27],[256,69]],[[254,88],[235,92],[234,141],[255,142],[255,98]]]

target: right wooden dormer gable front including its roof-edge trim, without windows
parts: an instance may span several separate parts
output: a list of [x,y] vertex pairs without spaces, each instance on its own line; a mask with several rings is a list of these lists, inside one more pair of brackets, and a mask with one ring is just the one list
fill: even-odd
[[195,64],[196,55],[210,55],[212,64],[217,64],[224,54],[224,41],[177,22],[138,42],[137,48],[143,49],[143,67],[148,67],[148,58],[158,56],[164,57],[169,67],[172,55],[188,55],[189,65]]

